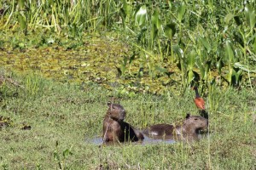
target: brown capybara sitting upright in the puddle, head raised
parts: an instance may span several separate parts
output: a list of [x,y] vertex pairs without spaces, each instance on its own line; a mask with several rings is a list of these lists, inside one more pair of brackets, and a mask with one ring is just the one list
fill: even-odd
[[122,105],[108,102],[108,111],[103,122],[103,142],[143,140],[143,133],[124,122],[125,109]]

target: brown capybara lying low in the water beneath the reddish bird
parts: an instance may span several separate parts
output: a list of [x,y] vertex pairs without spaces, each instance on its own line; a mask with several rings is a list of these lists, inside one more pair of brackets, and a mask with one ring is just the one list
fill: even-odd
[[171,124],[156,124],[144,130],[148,136],[164,136],[164,135],[195,135],[200,130],[205,130],[208,127],[208,119],[201,116],[190,116],[187,114],[183,125],[173,126]]

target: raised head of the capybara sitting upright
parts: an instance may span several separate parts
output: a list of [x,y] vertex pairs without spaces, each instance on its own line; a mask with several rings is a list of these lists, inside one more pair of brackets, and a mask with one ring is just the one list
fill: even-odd
[[108,111],[107,115],[112,118],[119,121],[123,121],[125,119],[125,109],[122,105],[119,104],[113,104],[110,101],[108,101]]

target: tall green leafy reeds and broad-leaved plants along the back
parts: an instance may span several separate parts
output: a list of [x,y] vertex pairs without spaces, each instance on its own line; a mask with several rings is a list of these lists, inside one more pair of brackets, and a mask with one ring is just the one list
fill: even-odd
[[[255,7],[255,0],[3,0],[1,30],[16,28],[26,35],[44,28],[68,37],[115,30],[136,51],[140,75],[170,77],[177,66],[184,88],[191,83],[239,87],[242,77],[252,88]],[[123,76],[133,59],[125,57]]]

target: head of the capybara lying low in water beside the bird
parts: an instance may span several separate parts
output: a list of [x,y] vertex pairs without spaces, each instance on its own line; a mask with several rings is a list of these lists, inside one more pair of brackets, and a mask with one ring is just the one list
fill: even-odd
[[186,119],[183,122],[183,127],[186,127],[188,131],[194,131],[198,133],[200,130],[207,129],[208,119],[201,116],[190,116],[188,113]]

